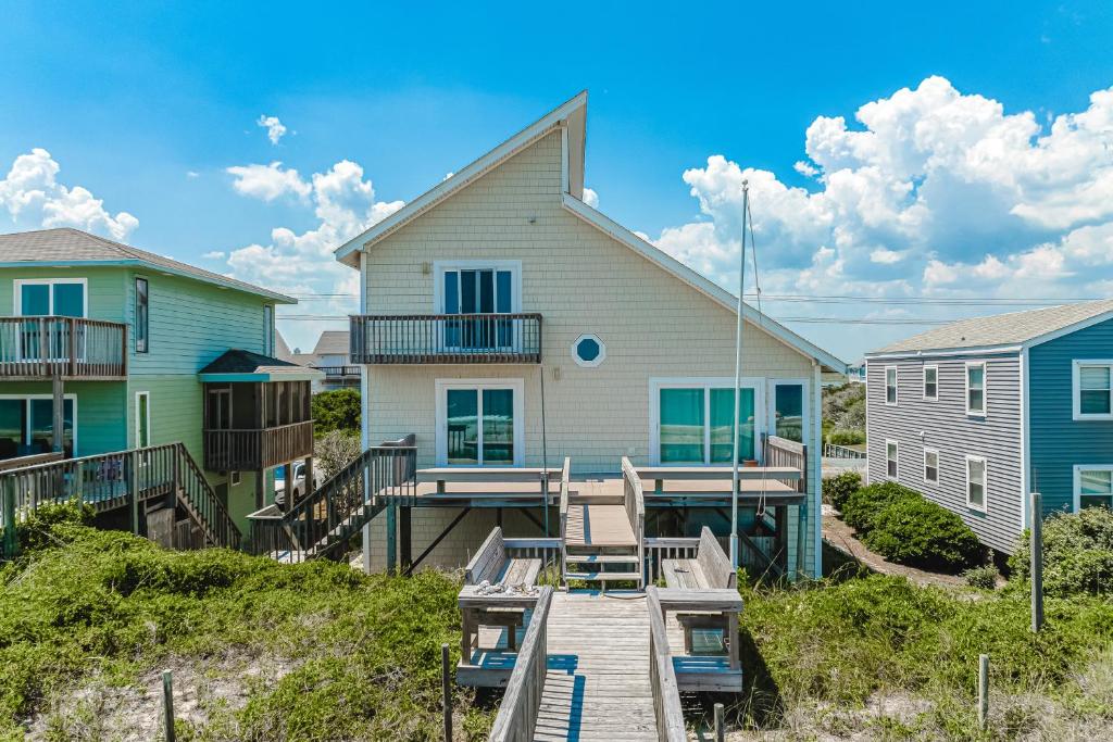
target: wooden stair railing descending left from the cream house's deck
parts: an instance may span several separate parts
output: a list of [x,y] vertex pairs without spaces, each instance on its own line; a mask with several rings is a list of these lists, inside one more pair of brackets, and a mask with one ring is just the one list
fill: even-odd
[[272,505],[248,515],[252,552],[293,562],[333,552],[387,498],[414,496],[416,462],[413,445],[367,448],[288,511]]

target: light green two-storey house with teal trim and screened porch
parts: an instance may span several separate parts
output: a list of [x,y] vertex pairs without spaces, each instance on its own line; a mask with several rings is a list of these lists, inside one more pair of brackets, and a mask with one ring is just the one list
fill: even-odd
[[245,528],[276,466],[312,466],[321,374],[272,357],[295,303],[78,229],[0,235],[0,459],[181,442]]

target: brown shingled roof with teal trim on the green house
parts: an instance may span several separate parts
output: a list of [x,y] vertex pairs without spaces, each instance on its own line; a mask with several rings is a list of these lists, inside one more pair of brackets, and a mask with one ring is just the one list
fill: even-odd
[[146,266],[155,270],[203,280],[224,288],[234,288],[263,296],[276,304],[297,304],[297,299],[228,278],[187,263],[115,243],[72,227],[21,231],[0,235],[0,268],[37,266]]

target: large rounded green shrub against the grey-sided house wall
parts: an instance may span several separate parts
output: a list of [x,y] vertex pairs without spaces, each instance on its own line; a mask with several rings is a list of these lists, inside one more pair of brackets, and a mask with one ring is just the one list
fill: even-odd
[[946,507],[920,496],[898,497],[870,518],[863,542],[890,562],[956,571],[983,554],[977,536]]

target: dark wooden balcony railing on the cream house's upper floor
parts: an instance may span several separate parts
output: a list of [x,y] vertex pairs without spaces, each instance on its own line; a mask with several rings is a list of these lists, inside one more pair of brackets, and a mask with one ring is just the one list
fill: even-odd
[[541,315],[357,315],[357,364],[541,363]]

